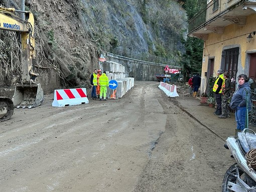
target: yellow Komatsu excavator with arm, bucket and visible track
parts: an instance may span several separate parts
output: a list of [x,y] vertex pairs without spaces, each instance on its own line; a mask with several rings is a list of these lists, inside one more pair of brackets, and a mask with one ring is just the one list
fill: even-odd
[[[15,13],[25,14],[25,19]],[[21,63],[23,68],[21,80],[15,86],[13,98],[0,97],[0,122],[12,117],[14,107],[33,108],[43,102],[43,89],[40,84],[35,83],[39,74],[34,73],[33,65],[33,59],[36,57],[34,23],[34,16],[30,11],[0,6],[0,30],[21,33]]]

